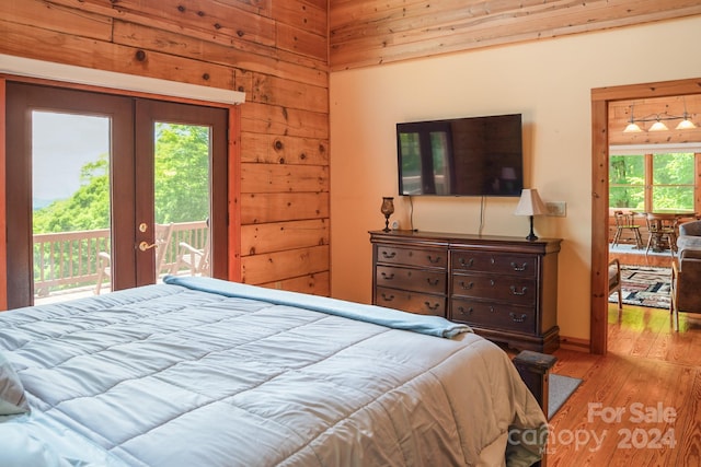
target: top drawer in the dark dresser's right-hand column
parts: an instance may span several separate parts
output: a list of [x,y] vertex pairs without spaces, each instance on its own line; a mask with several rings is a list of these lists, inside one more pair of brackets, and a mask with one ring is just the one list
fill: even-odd
[[481,271],[535,278],[537,257],[489,252],[452,252],[452,270]]

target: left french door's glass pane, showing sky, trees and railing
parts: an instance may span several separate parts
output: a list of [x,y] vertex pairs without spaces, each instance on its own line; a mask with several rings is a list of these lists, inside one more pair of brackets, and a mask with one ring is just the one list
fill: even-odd
[[32,112],[35,303],[111,290],[110,132],[108,117]]

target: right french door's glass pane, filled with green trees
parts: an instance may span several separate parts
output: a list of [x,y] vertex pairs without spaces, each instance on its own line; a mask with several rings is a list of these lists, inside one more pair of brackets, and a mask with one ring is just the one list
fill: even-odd
[[210,276],[210,138],[208,126],[154,122],[156,281]]

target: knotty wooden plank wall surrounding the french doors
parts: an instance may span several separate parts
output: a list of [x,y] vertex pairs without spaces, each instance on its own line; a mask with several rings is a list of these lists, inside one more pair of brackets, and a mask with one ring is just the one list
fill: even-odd
[[245,92],[241,278],[330,293],[326,0],[2,0],[0,54]]

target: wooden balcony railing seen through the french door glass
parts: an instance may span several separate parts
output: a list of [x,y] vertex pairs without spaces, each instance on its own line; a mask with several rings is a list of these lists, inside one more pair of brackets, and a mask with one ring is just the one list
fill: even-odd
[[[207,224],[204,221],[173,224],[159,276],[179,272],[173,269],[177,264],[181,242],[195,248],[204,248],[207,235]],[[34,235],[35,299],[59,292],[65,294],[94,290],[101,268],[101,252],[110,252],[107,229]],[[181,269],[189,271],[185,267]]]

